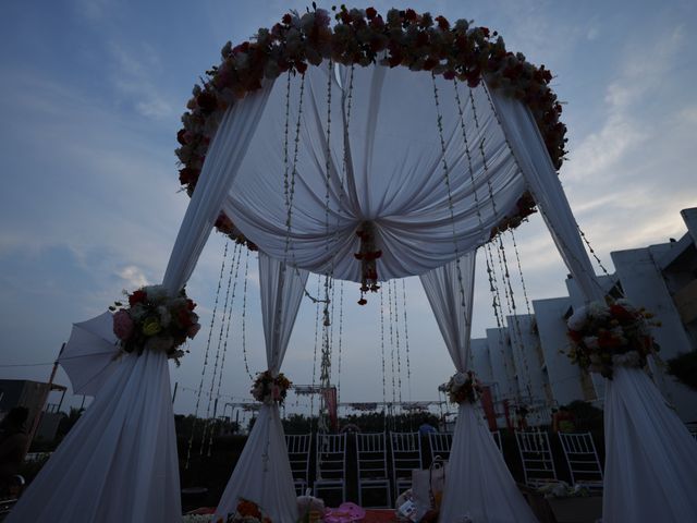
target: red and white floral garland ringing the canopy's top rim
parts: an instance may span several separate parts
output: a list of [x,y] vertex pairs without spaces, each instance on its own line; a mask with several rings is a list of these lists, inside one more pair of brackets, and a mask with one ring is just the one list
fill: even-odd
[[[444,16],[419,14],[413,9],[391,9],[384,19],[374,8],[348,10],[342,5],[332,11],[337,11],[333,26],[330,13],[322,9],[302,16],[286,13],[271,29],[259,29],[252,41],[235,47],[225,44],[222,62],[206,72],[203,85],[194,87],[188,110],[182,115],[183,127],[176,135],[180,183],[189,196],[228,107],[259,89],[265,78],[273,80],[286,72],[304,74],[308,65],[319,65],[326,59],[344,65],[379,62],[390,68],[430,71],[445,80],[466,82],[470,87],[486,78],[490,87],[528,106],[554,167],[561,167],[566,153],[566,126],[560,121],[562,106],[549,87],[552,74],[545,65],[527,62],[524,54],[508,51],[497,32],[470,26],[466,20],[451,24]],[[381,54],[384,58],[379,58]],[[505,217],[492,235],[517,227],[534,212],[529,194],[518,204],[517,214]],[[223,230],[227,234],[232,231],[234,227]],[[247,243],[244,236],[234,238]]]

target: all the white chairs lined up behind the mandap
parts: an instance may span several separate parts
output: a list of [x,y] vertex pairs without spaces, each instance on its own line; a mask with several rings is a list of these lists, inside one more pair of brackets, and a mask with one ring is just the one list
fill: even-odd
[[[317,434],[315,446],[315,481],[313,492],[321,497],[326,491],[339,491],[346,499],[346,442],[348,435]],[[431,458],[448,460],[452,433],[428,434]],[[492,433],[499,450],[501,434]],[[298,495],[310,483],[311,435],[285,437],[293,479]],[[602,487],[602,467],[590,433],[560,433],[562,450],[571,479],[589,488]],[[523,464],[525,483],[538,487],[558,479],[549,435],[543,431],[516,431],[516,446]],[[389,465],[388,465],[389,463]],[[419,433],[355,434],[355,466],[358,483],[358,503],[364,492],[384,492],[386,507],[394,497],[411,487],[412,471],[424,467],[424,452]]]

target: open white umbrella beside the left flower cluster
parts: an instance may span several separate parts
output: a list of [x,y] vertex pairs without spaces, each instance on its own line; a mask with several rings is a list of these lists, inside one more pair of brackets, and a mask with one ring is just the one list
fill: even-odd
[[111,376],[119,354],[110,312],[73,324],[70,340],[58,357],[76,394],[96,396]]

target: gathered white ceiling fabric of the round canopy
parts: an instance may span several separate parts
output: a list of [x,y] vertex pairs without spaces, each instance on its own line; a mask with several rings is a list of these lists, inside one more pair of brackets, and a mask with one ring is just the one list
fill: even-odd
[[[335,278],[359,281],[360,264],[353,253],[359,251],[356,228],[365,220],[375,223],[377,246],[382,250],[378,260],[380,280],[420,275],[454,259],[453,219],[430,73],[382,65],[355,68],[348,115],[351,70],[337,68],[331,77],[329,182],[328,74],[323,63],[309,68],[305,75],[291,264],[319,273],[333,267]],[[283,132],[286,84],[279,81],[273,86],[255,139],[224,202],[224,210],[235,226],[274,258],[282,258],[285,251],[283,173],[292,172],[294,165],[299,83],[298,76],[291,85],[288,139]],[[442,77],[436,84],[452,187],[455,240],[457,252],[465,253],[488,241],[491,228],[515,207],[525,181],[484,88],[473,92],[475,111],[468,89],[458,86],[469,143],[465,147],[454,84]],[[479,148],[482,141],[484,156]],[[479,216],[475,192],[480,203]]]

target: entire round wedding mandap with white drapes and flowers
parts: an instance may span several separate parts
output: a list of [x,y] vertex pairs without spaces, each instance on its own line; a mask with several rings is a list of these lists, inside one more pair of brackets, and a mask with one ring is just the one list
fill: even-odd
[[[496,32],[411,9],[292,12],[225,45],[178,134],[191,202],[162,283],[88,321],[94,352],[107,357],[75,373],[95,400],[8,521],[181,520],[168,358],[198,330],[183,289],[215,228],[258,250],[268,382],[280,375],[309,273],[327,287],[355,282],[359,304],[384,282],[419,277],[457,389],[474,379],[477,250],[535,211],[586,303],[570,324],[576,361],[590,370],[604,362],[603,521],[697,521],[697,445],[643,369],[650,331],[629,336],[643,316],[596,278],[558,177],[566,127],[551,81]],[[595,342],[603,307],[628,311],[623,343]],[[246,499],[273,522],[294,522],[279,398],[258,399],[216,513],[224,521]],[[465,515],[537,521],[469,394],[439,521]]]

